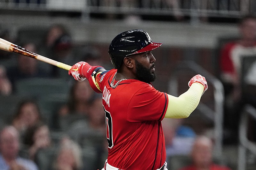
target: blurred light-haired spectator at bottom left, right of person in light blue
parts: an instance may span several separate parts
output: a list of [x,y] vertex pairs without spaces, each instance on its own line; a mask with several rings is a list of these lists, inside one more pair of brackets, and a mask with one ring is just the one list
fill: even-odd
[[81,170],[81,148],[74,141],[64,137],[60,143],[60,149],[55,158],[52,170]]

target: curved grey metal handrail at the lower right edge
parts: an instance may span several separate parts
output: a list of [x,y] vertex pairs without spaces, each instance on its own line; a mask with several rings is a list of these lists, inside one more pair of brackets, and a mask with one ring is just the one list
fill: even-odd
[[241,115],[239,124],[239,147],[238,147],[238,170],[246,170],[247,154],[250,151],[256,155],[256,144],[250,141],[247,137],[248,134],[248,116],[256,120],[256,108],[251,105],[245,105]]

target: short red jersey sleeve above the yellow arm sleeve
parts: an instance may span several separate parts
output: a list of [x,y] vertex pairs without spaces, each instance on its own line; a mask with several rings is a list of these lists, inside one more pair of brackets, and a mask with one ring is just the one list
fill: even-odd
[[127,120],[130,122],[162,121],[167,105],[167,94],[147,84],[132,96],[127,107]]

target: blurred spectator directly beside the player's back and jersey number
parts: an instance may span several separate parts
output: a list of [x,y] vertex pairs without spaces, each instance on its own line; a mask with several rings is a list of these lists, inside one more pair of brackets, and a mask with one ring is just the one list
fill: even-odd
[[96,95],[90,103],[88,121],[77,120],[68,128],[67,133],[83,148],[93,148],[96,154],[93,165],[96,169],[101,168],[102,162],[105,162],[108,155],[105,112],[102,109],[102,95]]

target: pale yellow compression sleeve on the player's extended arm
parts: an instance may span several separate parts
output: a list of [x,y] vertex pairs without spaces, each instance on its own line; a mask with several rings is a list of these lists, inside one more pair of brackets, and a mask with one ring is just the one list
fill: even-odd
[[169,102],[164,117],[187,118],[199,104],[203,91],[202,84],[193,83],[188,91],[179,97],[167,94]]

